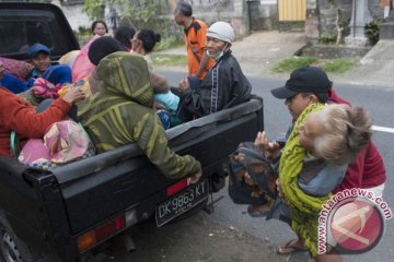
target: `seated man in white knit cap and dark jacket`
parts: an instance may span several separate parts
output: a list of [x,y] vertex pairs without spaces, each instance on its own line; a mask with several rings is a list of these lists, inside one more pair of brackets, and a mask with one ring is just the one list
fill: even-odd
[[207,53],[216,63],[200,83],[194,76],[179,83],[177,117],[182,121],[207,116],[251,98],[251,83],[231,55],[233,40],[234,31],[229,23],[216,22],[208,28]]

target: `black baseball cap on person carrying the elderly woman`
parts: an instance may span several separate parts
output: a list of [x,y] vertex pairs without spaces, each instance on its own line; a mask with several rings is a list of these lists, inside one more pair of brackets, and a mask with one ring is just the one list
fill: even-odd
[[299,93],[313,93],[321,102],[328,99],[328,90],[333,82],[327,74],[317,67],[302,67],[291,72],[285,86],[271,90],[271,94],[279,99],[293,97]]

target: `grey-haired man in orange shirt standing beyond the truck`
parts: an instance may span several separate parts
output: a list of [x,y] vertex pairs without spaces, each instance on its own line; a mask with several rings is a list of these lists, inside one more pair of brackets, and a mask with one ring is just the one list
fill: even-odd
[[178,2],[174,11],[176,24],[185,28],[185,45],[187,51],[187,67],[189,75],[202,80],[215,61],[206,53],[207,25],[193,15],[192,5],[186,2]]

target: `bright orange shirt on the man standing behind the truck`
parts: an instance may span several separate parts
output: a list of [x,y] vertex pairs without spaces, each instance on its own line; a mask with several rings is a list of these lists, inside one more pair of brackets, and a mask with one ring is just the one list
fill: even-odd
[[[195,74],[199,67],[199,61],[201,60],[202,53],[206,50],[207,45],[207,25],[200,21],[193,19],[192,25],[185,29],[185,45],[187,51],[187,67],[189,74]],[[197,59],[198,58],[198,59]],[[205,68],[205,72],[199,75],[199,79],[202,80],[210,68],[212,68],[215,61],[212,59],[208,60],[208,63]]]

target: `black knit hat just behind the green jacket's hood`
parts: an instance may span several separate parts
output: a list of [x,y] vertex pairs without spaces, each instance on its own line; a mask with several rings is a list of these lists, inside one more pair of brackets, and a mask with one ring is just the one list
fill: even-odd
[[92,43],[89,48],[88,57],[94,66],[99,66],[103,58],[116,51],[127,50],[126,47],[111,36],[102,36]]

